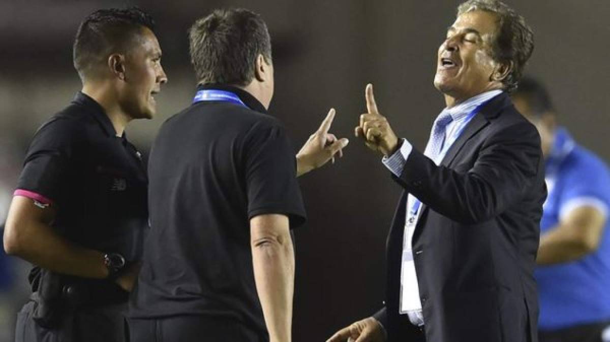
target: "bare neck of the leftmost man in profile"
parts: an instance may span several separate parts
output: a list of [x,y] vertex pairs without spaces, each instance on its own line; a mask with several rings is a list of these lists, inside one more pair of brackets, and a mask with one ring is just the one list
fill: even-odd
[[85,82],[82,92],[104,108],[104,112],[112,122],[117,136],[123,136],[125,127],[132,120],[132,117],[121,108],[116,91],[104,83]]

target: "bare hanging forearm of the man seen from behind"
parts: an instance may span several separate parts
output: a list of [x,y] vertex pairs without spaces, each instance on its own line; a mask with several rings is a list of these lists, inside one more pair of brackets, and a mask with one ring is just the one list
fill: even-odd
[[291,341],[295,259],[285,237],[253,243],[254,280],[271,342]]

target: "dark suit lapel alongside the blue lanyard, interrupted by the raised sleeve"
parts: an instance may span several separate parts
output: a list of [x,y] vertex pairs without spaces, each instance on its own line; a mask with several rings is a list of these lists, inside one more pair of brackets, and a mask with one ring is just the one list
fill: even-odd
[[[440,165],[445,166],[445,167],[450,166],[451,162],[453,162],[453,159],[456,158],[458,153],[462,150],[462,147],[464,147],[464,144],[470,138],[472,138],[477,133],[479,133],[479,131],[481,131],[484,127],[486,127],[489,124],[490,118],[497,116],[501,110],[503,110],[504,108],[506,108],[507,106],[509,106],[511,104],[512,104],[512,102],[511,102],[510,97],[505,92],[503,92],[502,94],[494,97],[489,102],[487,102],[485,105],[483,105],[483,107],[481,107],[481,110],[479,110],[479,113],[477,113],[472,118],[472,120],[470,120],[470,122],[468,122],[468,125],[466,125],[466,127],[464,128],[464,131],[459,136],[458,140],[456,140],[453,143],[453,145],[451,145],[451,147],[447,151],[447,154],[445,155],[443,160],[440,162]],[[413,235],[414,241],[415,241],[416,234],[418,233],[418,231],[421,230],[421,229],[419,229],[419,227],[422,224],[422,222],[424,221],[424,220],[422,220],[422,218],[423,218],[423,215],[425,214],[426,209],[428,209],[428,206],[425,203],[422,203],[422,206],[420,207],[419,218],[417,220],[417,225],[415,226],[415,232]]]

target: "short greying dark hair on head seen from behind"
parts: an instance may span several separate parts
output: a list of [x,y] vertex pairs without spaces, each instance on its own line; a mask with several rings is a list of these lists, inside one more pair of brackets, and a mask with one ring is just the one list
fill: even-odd
[[195,21],[188,38],[200,84],[246,86],[254,78],[259,55],[271,63],[267,25],[250,10],[214,10]]

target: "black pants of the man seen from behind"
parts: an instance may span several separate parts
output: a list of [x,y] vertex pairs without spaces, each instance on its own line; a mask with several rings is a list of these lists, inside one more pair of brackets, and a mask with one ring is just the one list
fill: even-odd
[[132,342],[266,342],[239,322],[207,316],[129,319]]

